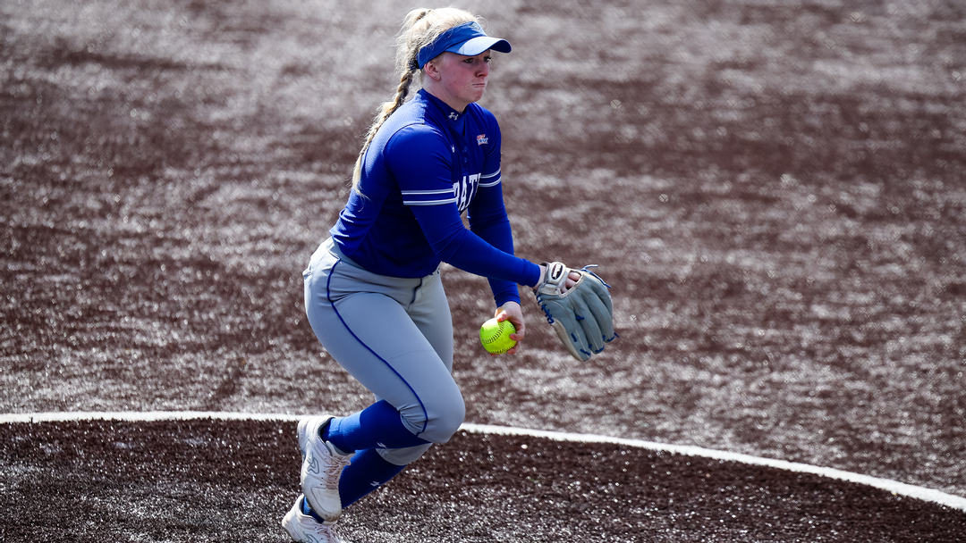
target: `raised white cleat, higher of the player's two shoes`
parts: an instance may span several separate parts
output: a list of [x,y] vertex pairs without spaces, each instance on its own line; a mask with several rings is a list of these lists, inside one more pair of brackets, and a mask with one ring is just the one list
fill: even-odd
[[339,454],[332,444],[322,441],[319,428],[332,417],[309,417],[298,421],[298,449],[302,453],[301,488],[315,514],[327,522],[342,515],[339,477],[352,462],[351,455]]

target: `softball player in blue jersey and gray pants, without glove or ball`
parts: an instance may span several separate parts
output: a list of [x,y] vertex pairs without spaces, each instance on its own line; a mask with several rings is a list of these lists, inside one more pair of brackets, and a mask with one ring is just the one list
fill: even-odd
[[[376,116],[349,201],[304,271],[312,330],[376,402],[298,423],[302,496],[282,521],[296,541],[339,541],[333,524],[344,507],[463,422],[440,262],[487,277],[497,318],[516,326],[512,339],[526,335],[517,285],[538,285],[546,266],[513,254],[499,125],[475,103],[491,51],[509,53],[510,43],[487,36],[472,14],[407,14],[395,98]],[[406,101],[417,77],[422,89]]]

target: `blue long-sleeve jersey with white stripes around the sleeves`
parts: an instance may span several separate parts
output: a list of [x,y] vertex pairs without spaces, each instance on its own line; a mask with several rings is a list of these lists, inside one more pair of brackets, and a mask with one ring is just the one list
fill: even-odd
[[329,233],[373,273],[423,277],[445,261],[486,277],[497,306],[519,302],[517,284],[540,278],[539,266],[513,255],[496,118],[475,103],[461,114],[425,91],[383,123]]

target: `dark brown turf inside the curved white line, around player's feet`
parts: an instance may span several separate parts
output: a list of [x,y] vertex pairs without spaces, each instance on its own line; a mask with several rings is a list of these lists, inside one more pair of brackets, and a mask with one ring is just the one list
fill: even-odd
[[[5,541],[284,541],[294,422],[0,424]],[[38,522],[37,504],[67,512]],[[270,514],[274,512],[276,514]],[[346,520],[352,541],[956,541],[966,513],[817,475],[460,432]],[[40,526],[39,526],[40,525]]]

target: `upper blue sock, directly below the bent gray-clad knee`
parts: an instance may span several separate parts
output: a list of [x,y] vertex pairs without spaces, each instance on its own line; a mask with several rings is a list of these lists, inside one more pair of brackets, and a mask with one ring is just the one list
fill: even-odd
[[429,443],[416,437],[403,424],[396,408],[385,400],[349,417],[332,419],[323,428],[322,439],[346,453],[369,448],[410,448]]

